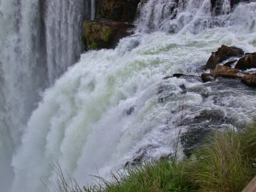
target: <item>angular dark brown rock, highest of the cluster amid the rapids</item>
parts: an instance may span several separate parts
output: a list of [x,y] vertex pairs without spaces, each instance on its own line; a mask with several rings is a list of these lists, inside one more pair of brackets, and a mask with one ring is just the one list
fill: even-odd
[[209,60],[207,61],[205,68],[214,69],[218,63],[227,60],[228,58],[234,56],[243,56],[244,51],[237,47],[228,47],[226,45],[221,45],[221,47],[216,52],[212,52]]

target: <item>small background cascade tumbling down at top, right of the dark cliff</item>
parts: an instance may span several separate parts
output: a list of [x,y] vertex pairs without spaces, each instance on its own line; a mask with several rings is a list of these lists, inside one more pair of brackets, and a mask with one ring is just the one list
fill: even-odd
[[[204,29],[223,26],[230,11],[229,0],[216,4],[213,10],[209,0],[149,0],[142,5],[136,24],[138,30],[144,32],[161,30],[177,33],[183,29],[198,33]],[[218,12],[219,16],[214,17],[214,12]]]

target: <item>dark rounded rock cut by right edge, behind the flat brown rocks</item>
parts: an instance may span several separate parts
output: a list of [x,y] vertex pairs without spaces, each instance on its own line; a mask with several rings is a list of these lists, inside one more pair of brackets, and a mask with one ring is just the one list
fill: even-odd
[[256,68],[256,52],[244,56],[237,61],[236,67],[240,70],[246,70],[248,68]]

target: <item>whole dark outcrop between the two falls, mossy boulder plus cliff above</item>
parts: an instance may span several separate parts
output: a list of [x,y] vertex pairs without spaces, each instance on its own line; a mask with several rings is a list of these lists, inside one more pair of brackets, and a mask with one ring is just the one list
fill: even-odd
[[96,0],[97,19],[84,22],[84,50],[113,49],[131,35],[140,0]]

